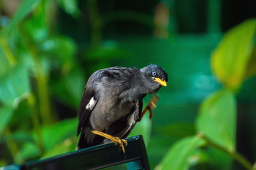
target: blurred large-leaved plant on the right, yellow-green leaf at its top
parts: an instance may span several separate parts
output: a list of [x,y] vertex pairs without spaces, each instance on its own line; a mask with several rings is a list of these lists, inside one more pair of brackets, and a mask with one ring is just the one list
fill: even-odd
[[[255,63],[252,63],[255,60],[255,24],[255,19],[247,20],[228,31],[212,53],[212,69],[222,81],[223,89],[208,96],[201,104],[196,118],[196,136],[173,145],[157,169],[188,169],[189,164],[194,166],[199,159],[193,151],[203,145],[217,148],[245,169],[252,169],[252,163],[236,152],[237,106],[234,95],[243,80],[248,78],[246,73],[250,71],[250,76],[255,74]],[[223,74],[228,74],[228,77],[223,77]],[[222,168],[227,167],[218,167]]]

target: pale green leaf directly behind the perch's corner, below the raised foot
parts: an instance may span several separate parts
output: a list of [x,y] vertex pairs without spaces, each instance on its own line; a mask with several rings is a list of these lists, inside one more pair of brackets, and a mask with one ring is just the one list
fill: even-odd
[[128,137],[141,134],[143,136],[144,143],[147,147],[150,141],[151,128],[152,128],[152,122],[147,117],[147,115],[145,115],[145,117],[143,117],[141,121],[135,125],[134,129],[131,131]]

